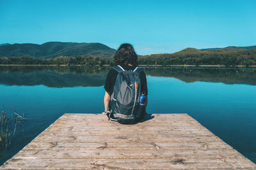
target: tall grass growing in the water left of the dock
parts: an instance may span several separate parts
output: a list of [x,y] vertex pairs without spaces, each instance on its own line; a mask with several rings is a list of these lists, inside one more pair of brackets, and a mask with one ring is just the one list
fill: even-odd
[[[22,124],[26,121],[26,118],[24,116],[24,113],[22,115],[19,115],[16,113],[16,110],[14,108],[14,111],[12,114],[7,115],[4,111],[4,107],[1,107],[0,110],[0,152],[3,153],[6,151],[8,146],[10,146],[10,143],[12,141],[12,137],[14,136],[18,125]],[[1,154],[2,155],[2,154]]]

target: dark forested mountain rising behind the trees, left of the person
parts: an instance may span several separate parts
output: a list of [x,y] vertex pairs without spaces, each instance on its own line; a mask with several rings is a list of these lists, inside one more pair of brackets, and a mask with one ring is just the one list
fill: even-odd
[[77,55],[97,55],[111,57],[115,49],[101,43],[63,43],[47,42],[42,45],[23,43],[0,46],[0,57],[54,58],[58,56],[75,57]]

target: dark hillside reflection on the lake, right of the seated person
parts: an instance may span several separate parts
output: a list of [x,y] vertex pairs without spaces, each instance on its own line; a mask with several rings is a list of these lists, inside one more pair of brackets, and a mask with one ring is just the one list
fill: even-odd
[[173,77],[191,83],[195,81],[220,82],[227,84],[247,83],[256,85],[256,69],[227,68],[146,68],[150,76]]

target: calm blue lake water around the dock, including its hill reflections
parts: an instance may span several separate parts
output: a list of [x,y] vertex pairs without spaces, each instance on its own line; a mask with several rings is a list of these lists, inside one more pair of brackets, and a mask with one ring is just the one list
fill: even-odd
[[[63,113],[101,113],[109,68],[0,67],[0,104],[25,113],[0,164]],[[148,113],[188,113],[256,162],[256,70],[147,68]]]

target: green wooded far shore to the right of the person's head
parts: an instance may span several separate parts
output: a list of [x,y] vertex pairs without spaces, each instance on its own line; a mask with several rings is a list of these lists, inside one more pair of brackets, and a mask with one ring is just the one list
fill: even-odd
[[192,52],[177,52],[144,55],[139,58],[141,65],[225,65],[250,66],[256,65],[256,50],[242,50],[236,52],[207,52],[194,50]]

